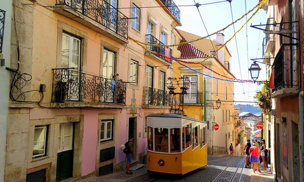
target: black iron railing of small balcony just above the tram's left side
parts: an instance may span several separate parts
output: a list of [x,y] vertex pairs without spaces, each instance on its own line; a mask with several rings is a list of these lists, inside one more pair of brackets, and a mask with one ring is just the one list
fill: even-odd
[[171,94],[165,90],[144,86],[143,105],[170,106]]

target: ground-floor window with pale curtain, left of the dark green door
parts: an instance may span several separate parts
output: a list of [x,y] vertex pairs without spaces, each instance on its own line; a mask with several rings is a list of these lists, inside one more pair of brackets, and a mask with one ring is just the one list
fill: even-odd
[[33,158],[43,157],[46,155],[47,144],[47,126],[35,126],[34,129],[34,144]]

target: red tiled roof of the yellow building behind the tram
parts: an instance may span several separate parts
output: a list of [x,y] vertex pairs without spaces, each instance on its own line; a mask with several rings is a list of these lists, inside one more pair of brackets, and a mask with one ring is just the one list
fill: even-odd
[[[185,39],[182,39],[180,43],[185,42]],[[195,47],[191,43],[179,45],[177,48],[180,51],[180,58],[207,58],[208,55],[200,50],[199,48]]]

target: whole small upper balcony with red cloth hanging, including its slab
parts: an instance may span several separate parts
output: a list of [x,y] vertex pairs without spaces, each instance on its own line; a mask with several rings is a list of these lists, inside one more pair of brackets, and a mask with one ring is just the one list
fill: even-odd
[[[146,35],[146,43],[148,43],[148,44],[164,45],[163,42],[161,42],[159,39],[155,38],[151,34],[147,34]],[[169,57],[169,58],[172,55],[172,50],[170,48],[168,48],[168,47],[156,47],[156,46],[152,46],[152,45],[146,45],[146,48],[148,50],[150,50],[150,51],[157,52],[158,54],[165,55],[166,57]],[[165,63],[167,66],[171,66],[172,65],[172,60],[168,59],[168,58],[165,58],[163,56],[159,56],[159,55],[152,54],[152,53],[149,53],[149,52],[146,52],[145,55],[147,55],[151,59],[158,58],[159,61]]]

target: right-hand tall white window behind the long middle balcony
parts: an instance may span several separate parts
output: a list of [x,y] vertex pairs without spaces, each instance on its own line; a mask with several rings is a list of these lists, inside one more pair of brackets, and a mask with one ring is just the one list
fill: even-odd
[[103,49],[102,73],[105,78],[112,79],[114,75],[115,53],[107,49]]

